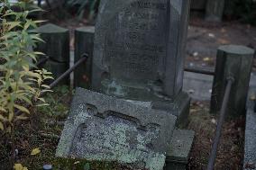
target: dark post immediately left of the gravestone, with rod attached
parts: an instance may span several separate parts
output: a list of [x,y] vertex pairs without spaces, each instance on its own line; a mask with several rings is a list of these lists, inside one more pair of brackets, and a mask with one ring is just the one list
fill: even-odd
[[89,88],[91,84],[92,58],[94,51],[95,27],[87,26],[75,31],[75,62],[84,53],[88,54],[87,63],[78,67],[74,72],[74,87]]

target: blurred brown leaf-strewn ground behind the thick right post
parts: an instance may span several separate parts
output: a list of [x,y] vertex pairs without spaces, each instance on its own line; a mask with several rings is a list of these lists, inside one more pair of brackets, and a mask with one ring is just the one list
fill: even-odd
[[[187,33],[186,65],[215,67],[218,47],[227,44],[256,49],[256,27],[239,22],[211,24],[203,20],[190,21]],[[253,70],[256,71],[255,59]]]

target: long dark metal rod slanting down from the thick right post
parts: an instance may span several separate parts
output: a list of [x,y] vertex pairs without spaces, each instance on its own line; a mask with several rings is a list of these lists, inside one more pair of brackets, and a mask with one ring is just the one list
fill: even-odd
[[216,154],[217,154],[218,145],[219,145],[220,139],[221,139],[221,133],[222,133],[222,128],[223,128],[223,124],[224,124],[225,113],[226,113],[227,104],[229,101],[231,87],[233,85],[233,82],[234,82],[233,77],[230,77],[227,79],[227,85],[225,87],[224,100],[223,100],[223,104],[222,104],[222,108],[221,108],[221,112],[220,112],[220,118],[219,118],[217,128],[216,128],[215,141],[214,141],[212,151],[211,151],[211,154],[209,157],[207,170],[213,170],[215,168],[215,158],[216,158]]

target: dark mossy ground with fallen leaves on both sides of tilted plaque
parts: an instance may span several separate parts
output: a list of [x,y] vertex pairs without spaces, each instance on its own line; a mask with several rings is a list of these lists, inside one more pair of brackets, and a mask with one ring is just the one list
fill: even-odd
[[[128,170],[129,167],[116,163],[87,162],[78,159],[55,158],[59,137],[68,117],[69,104],[74,91],[67,86],[59,86],[54,93],[46,95],[50,106],[36,111],[29,121],[24,121],[21,129],[15,133],[16,163],[27,166],[28,169],[41,169],[45,164],[53,165],[61,170]],[[206,169],[209,152],[215,136],[217,118],[208,112],[209,103],[193,101],[191,103],[188,129],[195,130],[196,138],[189,158],[188,169]],[[244,117],[228,120],[224,124],[221,145],[216,159],[216,169],[241,169],[244,140]],[[2,138],[1,138],[2,139]],[[40,152],[32,154],[32,149]],[[8,157],[9,146],[0,143],[4,150],[0,160]],[[5,162],[0,162],[0,165]]]

